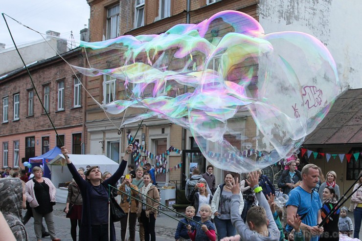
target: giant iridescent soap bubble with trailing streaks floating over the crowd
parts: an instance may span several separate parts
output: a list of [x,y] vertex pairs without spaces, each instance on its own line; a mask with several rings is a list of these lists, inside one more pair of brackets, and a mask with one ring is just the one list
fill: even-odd
[[[213,165],[234,172],[264,168],[296,152],[342,91],[320,41],[301,32],[264,34],[237,11],[159,35],[81,46],[99,58],[88,68],[74,67],[91,78],[117,79],[122,89],[104,110],[139,108],[123,124],[168,119],[191,131]],[[113,59],[104,69],[107,54]]]

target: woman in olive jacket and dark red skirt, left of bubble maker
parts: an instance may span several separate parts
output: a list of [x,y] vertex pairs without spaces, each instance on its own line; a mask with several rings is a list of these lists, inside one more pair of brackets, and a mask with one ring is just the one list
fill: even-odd
[[[79,169],[78,173],[83,178],[84,171]],[[82,203],[82,195],[80,194],[77,183],[75,181],[69,183],[67,204],[64,212],[67,214],[67,218],[70,219],[70,235],[73,241],[77,241],[77,223],[80,227],[80,223],[82,220]],[[71,207],[70,213],[68,213],[69,205]]]

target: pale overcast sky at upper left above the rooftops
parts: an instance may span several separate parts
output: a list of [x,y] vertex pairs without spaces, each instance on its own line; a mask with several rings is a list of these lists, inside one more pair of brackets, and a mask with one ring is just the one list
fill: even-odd
[[[53,30],[60,37],[70,39],[73,31],[74,39],[79,42],[79,31],[88,28],[90,7],[87,0],[1,0],[0,12],[22,22],[34,30],[45,33]],[[42,37],[5,16],[15,43],[25,44],[42,39]],[[5,48],[14,46],[5,21],[0,17],[0,43]]]

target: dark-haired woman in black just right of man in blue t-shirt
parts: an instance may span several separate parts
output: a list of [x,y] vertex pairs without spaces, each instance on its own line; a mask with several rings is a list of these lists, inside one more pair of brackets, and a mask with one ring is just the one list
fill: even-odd
[[[333,187],[327,186],[323,189],[323,206],[320,209],[320,216],[325,219],[329,212],[333,209],[333,206],[338,202],[338,195]],[[323,233],[321,234],[319,241],[339,241],[339,209],[335,210],[332,215],[323,224]]]

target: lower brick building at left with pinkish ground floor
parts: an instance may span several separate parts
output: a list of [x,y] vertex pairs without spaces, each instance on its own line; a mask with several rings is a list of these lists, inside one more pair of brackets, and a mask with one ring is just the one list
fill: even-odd
[[[62,57],[75,66],[83,66],[82,49],[70,50]],[[25,68],[8,72],[0,79],[1,96],[1,168],[24,168],[28,158],[46,153],[61,142],[72,153],[82,153],[85,133],[84,96],[79,80],[59,56],[28,66],[33,87]],[[80,74],[77,77],[81,80]],[[37,98],[38,92],[60,137]]]

